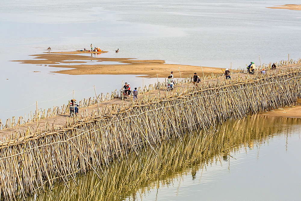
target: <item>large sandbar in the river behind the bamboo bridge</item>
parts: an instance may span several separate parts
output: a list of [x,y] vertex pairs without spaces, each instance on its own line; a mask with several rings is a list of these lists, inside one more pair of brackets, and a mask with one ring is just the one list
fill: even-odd
[[[166,64],[164,60],[136,60],[134,58],[96,58],[91,56],[75,55],[75,54],[37,54],[35,56],[38,60],[17,60],[21,63],[30,64],[48,64],[51,67],[60,68],[73,68],[68,70],[60,70],[55,73],[63,73],[69,75],[87,75],[87,74],[107,74],[107,75],[120,75],[120,74],[131,74],[131,75],[147,75],[144,77],[166,77],[170,75],[170,72],[174,72],[175,78],[179,78],[179,68],[182,77],[193,75],[197,73],[202,76],[202,68],[200,66],[190,65],[178,65],[178,64]],[[81,60],[81,61],[78,61]],[[89,64],[87,62],[89,62]],[[125,64],[113,64],[113,65],[101,65],[93,64],[91,61],[113,61],[126,63]],[[68,63],[70,65],[57,65],[60,63]],[[76,63],[87,63],[76,65]],[[51,65],[54,64],[54,65]],[[39,69],[37,68],[36,71]],[[222,73],[220,68],[214,67],[203,67],[204,74],[211,73]]]

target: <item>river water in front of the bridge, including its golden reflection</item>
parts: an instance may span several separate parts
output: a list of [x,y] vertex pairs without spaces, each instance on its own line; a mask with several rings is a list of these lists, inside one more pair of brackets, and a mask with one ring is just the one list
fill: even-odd
[[26,200],[300,200],[301,119],[247,117]]

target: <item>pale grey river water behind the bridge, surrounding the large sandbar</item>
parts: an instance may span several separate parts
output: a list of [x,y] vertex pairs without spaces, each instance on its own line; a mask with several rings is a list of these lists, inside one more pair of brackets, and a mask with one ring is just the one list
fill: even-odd
[[[50,46],[74,51],[90,44],[102,57],[161,59],[197,66],[245,66],[300,57],[301,11],[270,9],[283,0],[1,0],[0,118],[24,116],[121,88],[136,75],[62,75],[48,65],[21,64]],[[290,4],[300,3],[292,0]],[[119,53],[115,50],[119,48]],[[66,69],[64,69],[66,70]],[[41,71],[34,73],[33,71]],[[178,74],[175,72],[175,76]],[[154,83],[156,78],[144,79]]]

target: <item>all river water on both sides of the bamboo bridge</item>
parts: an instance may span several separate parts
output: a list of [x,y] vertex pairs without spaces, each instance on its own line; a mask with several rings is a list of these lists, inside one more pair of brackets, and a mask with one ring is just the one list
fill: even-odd
[[[80,100],[94,96],[94,85],[98,94],[122,81],[142,85],[137,75],[64,75],[11,61],[32,59],[49,46],[74,51],[92,43],[109,51],[102,57],[232,62],[233,68],[259,64],[259,55],[262,63],[287,54],[298,59],[301,11],[266,8],[287,3],[300,1],[1,0],[0,119],[30,113],[36,101],[43,109],[66,104],[73,90]],[[158,147],[158,155],[142,150],[114,161],[101,180],[89,172],[77,187],[70,182],[28,200],[300,200],[300,124],[263,117],[225,122],[218,132],[186,134]]]

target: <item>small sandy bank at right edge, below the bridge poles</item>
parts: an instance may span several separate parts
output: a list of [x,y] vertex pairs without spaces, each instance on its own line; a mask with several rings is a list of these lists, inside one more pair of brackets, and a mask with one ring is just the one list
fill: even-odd
[[[301,104],[301,99],[298,100],[298,104]],[[290,118],[301,118],[301,105],[292,107],[281,107],[268,112],[262,112],[261,116],[274,116],[274,117],[290,117]]]

